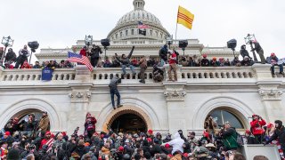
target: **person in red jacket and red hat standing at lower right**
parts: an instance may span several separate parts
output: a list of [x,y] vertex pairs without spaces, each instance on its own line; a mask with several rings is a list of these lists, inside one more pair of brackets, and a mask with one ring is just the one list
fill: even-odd
[[261,144],[264,140],[264,129],[263,126],[266,124],[265,120],[258,115],[252,116],[252,121],[250,122],[250,130],[253,135],[256,137],[257,144]]

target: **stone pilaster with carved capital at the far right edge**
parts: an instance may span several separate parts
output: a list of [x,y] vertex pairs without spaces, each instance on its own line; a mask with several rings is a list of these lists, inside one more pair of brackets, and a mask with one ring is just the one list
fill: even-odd
[[[281,82],[280,82],[281,84]],[[265,107],[265,114],[267,123],[274,123],[275,120],[285,122],[285,108],[281,104],[283,92],[278,89],[280,85],[278,82],[274,83],[259,83],[259,95]]]

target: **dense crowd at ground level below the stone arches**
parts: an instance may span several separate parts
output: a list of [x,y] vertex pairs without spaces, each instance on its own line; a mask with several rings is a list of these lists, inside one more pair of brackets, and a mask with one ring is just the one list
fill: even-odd
[[[46,112],[37,120],[34,114],[20,120],[13,117],[1,132],[0,159],[88,159],[88,160],[245,160],[238,152],[241,145],[276,144],[284,159],[285,128],[282,122],[267,124],[261,116],[253,115],[250,130],[241,136],[229,122],[217,128],[215,119],[208,116],[201,137],[196,132],[182,130],[162,135],[152,130],[138,132],[96,132],[97,120],[85,116],[84,132],[78,127],[70,136],[66,132],[50,132]],[[184,135],[187,135],[184,137]],[[256,160],[266,160],[256,156]]]

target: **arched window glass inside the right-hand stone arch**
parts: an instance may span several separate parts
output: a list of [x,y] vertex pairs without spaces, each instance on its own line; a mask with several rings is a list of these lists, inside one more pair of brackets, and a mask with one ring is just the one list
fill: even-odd
[[229,122],[232,125],[232,127],[236,129],[244,128],[239,117],[235,116],[232,112],[228,110],[216,109],[212,111],[209,115],[211,115],[213,119],[216,120],[217,128],[220,128],[221,126],[223,126],[225,122]]

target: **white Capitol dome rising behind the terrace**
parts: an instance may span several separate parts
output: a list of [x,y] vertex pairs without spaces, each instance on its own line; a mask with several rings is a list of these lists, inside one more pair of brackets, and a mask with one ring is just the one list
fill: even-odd
[[[131,40],[131,39],[148,39],[148,40],[165,40],[169,33],[164,28],[160,20],[151,12],[144,10],[144,0],[134,0],[134,11],[127,12],[118,20],[115,28],[113,28],[108,38],[111,41]],[[140,35],[138,31],[138,21],[142,21],[146,28],[146,36]]]

